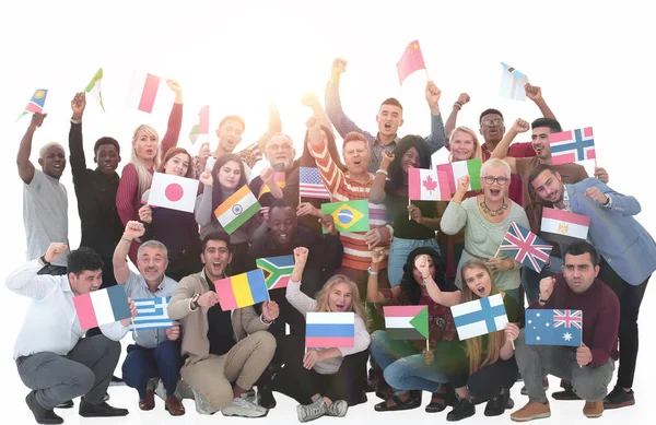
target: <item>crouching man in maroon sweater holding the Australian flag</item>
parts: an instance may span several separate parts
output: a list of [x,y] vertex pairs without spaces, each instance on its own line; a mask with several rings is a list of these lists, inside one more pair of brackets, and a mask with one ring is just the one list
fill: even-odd
[[582,310],[583,343],[578,349],[526,345],[522,330],[515,341],[515,357],[530,400],[511,415],[513,421],[526,422],[551,415],[542,388],[546,374],[572,382],[574,392],[586,401],[585,416],[604,414],[604,398],[614,361],[619,358],[620,303],[612,290],[597,279],[599,257],[595,247],[587,243],[571,245],[563,252],[563,261],[562,274],[540,281],[540,298],[530,308]]

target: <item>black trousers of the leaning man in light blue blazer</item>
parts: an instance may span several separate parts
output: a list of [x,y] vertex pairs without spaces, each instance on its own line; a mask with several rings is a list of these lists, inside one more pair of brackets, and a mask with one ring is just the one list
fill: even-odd
[[618,385],[624,388],[633,387],[635,363],[637,361],[637,315],[640,305],[647,288],[646,281],[640,285],[631,285],[616,273],[614,270],[601,259],[601,270],[598,278],[606,283],[620,300],[620,366],[618,369]]

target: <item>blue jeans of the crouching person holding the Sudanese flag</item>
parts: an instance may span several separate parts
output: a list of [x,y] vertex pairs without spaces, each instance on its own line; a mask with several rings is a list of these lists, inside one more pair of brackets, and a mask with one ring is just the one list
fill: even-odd
[[375,331],[370,350],[396,394],[409,390],[435,392],[448,382],[435,363],[426,365],[422,350],[410,341],[390,340],[386,331]]

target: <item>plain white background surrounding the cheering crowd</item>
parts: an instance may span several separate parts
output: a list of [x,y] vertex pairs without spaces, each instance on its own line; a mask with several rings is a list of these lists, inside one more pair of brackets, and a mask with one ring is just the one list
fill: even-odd
[[[128,109],[125,99],[132,70],[139,69],[179,80],[185,113],[179,145],[196,153],[188,132],[201,106],[210,104],[211,129],[221,117],[238,114],[246,119],[244,145],[267,127],[267,104],[278,103],[284,132],[295,141],[298,153],[308,109],[300,104],[304,91],[324,98],[324,88],[335,57],[349,60],[342,76],[341,97],[347,114],[362,128],[376,132],[375,115],[386,97],[397,97],[405,107],[400,134],[430,131],[424,101],[425,74],[417,72],[401,87],[396,62],[408,43],[419,39],[431,79],[443,90],[444,120],[460,92],[471,103],[458,123],[478,129],[478,116],[495,107],[504,113],[507,127],[518,117],[539,116],[530,101],[519,103],[497,96],[500,61],[509,63],[542,87],[544,98],[563,128],[593,126],[600,166],[610,175],[610,186],[636,196],[643,212],[637,220],[656,234],[656,201],[651,196],[655,97],[653,75],[652,14],[642,2],[622,1],[601,5],[593,1],[30,1],[10,2],[0,15],[2,46],[2,101],[0,128],[4,142],[1,156],[4,209],[2,263],[5,276],[24,260],[22,182],[15,167],[19,142],[30,116],[14,122],[36,88],[48,88],[48,117],[34,138],[32,158],[46,142],[68,146],[70,99],[82,91],[98,67],[105,70],[103,92],[106,114],[89,96],[84,114],[87,165],[93,166],[95,140],[112,135],[119,140],[122,163],[129,161],[130,138],[139,123],[154,125],[163,135],[172,93],[162,85],[152,115]],[[215,137],[212,137],[212,149]],[[528,141],[528,137],[522,139]],[[68,149],[67,149],[68,151]],[[443,158],[444,153],[436,154]],[[590,164],[586,164],[589,169]],[[257,168],[259,169],[259,167]],[[70,168],[61,181],[69,189],[69,238],[80,241],[80,224]],[[0,370],[3,382],[3,418],[7,423],[32,423],[24,403],[27,390],[11,359],[13,343],[28,305],[0,290],[4,332],[0,339]],[[634,383],[637,404],[606,412],[598,423],[637,423],[656,396],[655,374],[649,362],[654,347],[649,322],[655,319],[654,291],[643,302],[641,355]],[[128,341],[124,341],[127,343]],[[614,385],[614,380],[611,385]],[[513,389],[517,406],[522,383]],[[551,388],[558,380],[551,380]],[[142,413],[137,392],[125,387],[109,390],[112,403],[130,409],[126,418],[112,423],[214,423],[222,417],[199,416],[185,402],[187,415],[169,420],[159,402],[155,411]],[[429,415],[423,408],[403,413],[376,413],[370,394],[366,405],[352,409],[341,422],[363,420],[419,423],[444,421],[444,413]],[[426,397],[424,393],[424,404]],[[278,396],[279,406],[266,421],[295,421],[295,403]],[[78,402],[77,402],[78,404]],[[484,405],[477,418],[483,420]],[[583,402],[552,402],[555,421],[584,420]],[[81,421],[75,410],[58,411],[67,423]],[[8,420],[11,420],[9,422]],[[229,420],[236,421],[236,420]],[[321,420],[327,421],[327,420]],[[485,421],[508,422],[506,415]],[[549,422],[546,421],[546,422]],[[469,421],[471,422],[471,420]]]

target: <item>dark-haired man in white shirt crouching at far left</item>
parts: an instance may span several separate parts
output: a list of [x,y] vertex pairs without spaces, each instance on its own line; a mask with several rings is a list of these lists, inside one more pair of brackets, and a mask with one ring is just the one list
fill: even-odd
[[[7,278],[10,291],[33,299],[13,354],[21,379],[32,389],[25,401],[39,424],[63,423],[52,409],[80,396],[81,416],[126,416],[126,409],[110,406],[104,397],[130,319],[101,326],[103,334],[82,339],[73,297],[101,286],[103,261],[83,247],[69,253],[68,274],[37,274],[67,251],[66,244],[51,243],[45,255]],[[129,305],[137,316],[134,303]]]

